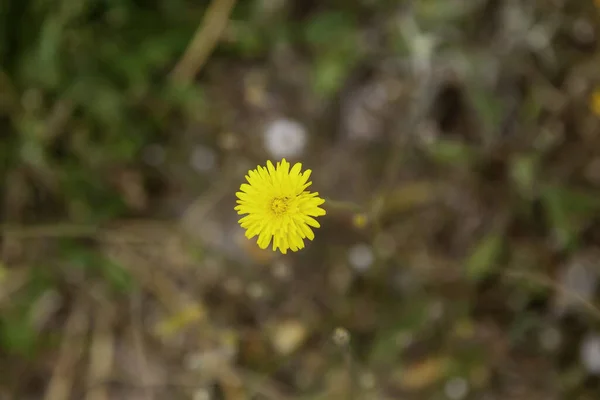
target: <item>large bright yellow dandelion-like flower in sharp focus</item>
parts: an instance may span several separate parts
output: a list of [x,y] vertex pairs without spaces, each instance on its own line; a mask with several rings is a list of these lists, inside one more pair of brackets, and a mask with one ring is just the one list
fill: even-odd
[[306,190],[311,170],[300,172],[302,164],[290,169],[285,158],[273,166],[258,166],[246,175],[248,183],[240,186],[235,210],[247,214],[239,220],[246,229],[248,239],[258,235],[258,246],[266,249],[273,239],[273,251],[278,248],[286,254],[288,249],[304,248],[304,239],[315,237],[311,227],[320,225],[313,217],[325,215],[319,206],[325,202],[319,193]]

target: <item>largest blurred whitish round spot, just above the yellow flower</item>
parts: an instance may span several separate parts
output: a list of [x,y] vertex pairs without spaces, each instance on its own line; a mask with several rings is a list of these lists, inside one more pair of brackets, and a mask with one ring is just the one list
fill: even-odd
[[267,126],[264,140],[267,151],[274,157],[296,157],[304,151],[308,135],[300,123],[282,118]]

